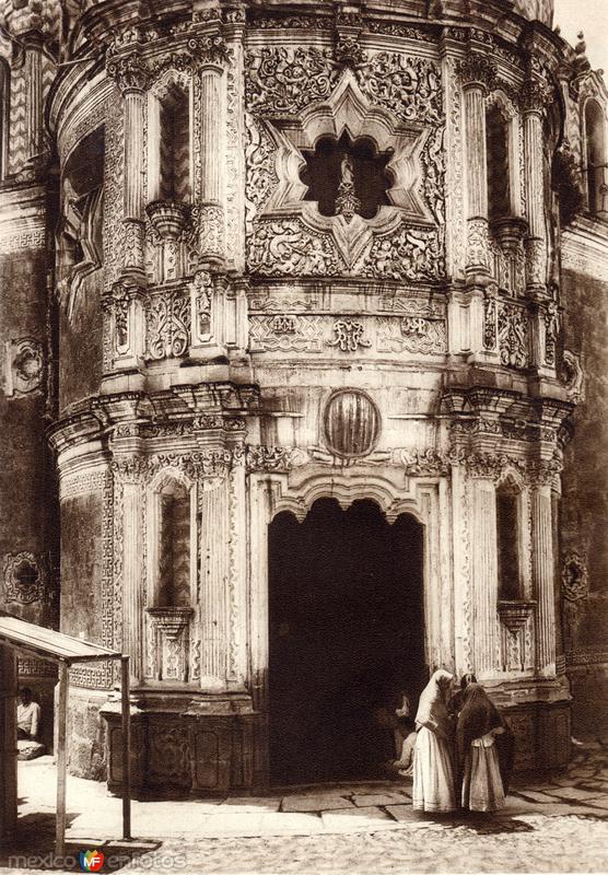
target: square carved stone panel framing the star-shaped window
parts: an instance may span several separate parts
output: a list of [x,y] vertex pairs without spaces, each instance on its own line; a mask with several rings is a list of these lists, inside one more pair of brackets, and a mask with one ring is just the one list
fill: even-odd
[[[252,54],[247,69],[250,268],[348,273],[360,264],[372,276],[429,281],[441,276],[445,166],[439,68],[378,52],[344,71],[331,66],[328,52],[278,48]],[[293,120],[278,127],[285,117]],[[390,205],[373,219],[358,214],[348,162],[335,217],[321,215],[305,198],[303,137],[312,144],[313,136],[339,137],[346,129],[393,152]],[[423,198],[412,174],[423,180]],[[285,218],[277,220],[279,214]]]

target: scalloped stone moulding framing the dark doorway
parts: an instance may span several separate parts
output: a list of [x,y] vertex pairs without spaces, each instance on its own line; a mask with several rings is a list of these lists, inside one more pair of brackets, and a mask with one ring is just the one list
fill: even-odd
[[424,650],[431,667],[444,665],[454,670],[453,570],[448,530],[449,495],[447,478],[408,478],[404,487],[402,468],[388,466],[382,474],[361,464],[348,471],[311,465],[289,474],[256,472],[249,480],[249,641],[254,708],[260,715],[254,751],[255,779],[269,781],[268,748],[268,526],[277,514],[291,512],[303,521],[317,499],[336,499],[347,510],[354,501],[374,501],[387,522],[400,514],[413,516],[422,526]]

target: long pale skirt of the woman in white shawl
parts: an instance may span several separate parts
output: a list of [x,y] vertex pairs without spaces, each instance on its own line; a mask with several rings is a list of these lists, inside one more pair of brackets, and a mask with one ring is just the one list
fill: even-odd
[[423,726],[413,751],[412,805],[417,812],[455,812],[456,790],[447,742]]

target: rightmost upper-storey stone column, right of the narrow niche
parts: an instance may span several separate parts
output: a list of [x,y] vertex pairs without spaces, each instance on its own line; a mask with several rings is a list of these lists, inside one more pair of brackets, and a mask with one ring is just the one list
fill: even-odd
[[547,100],[542,83],[528,80],[522,93],[524,113],[526,203],[526,282],[528,290],[547,284],[547,236],[545,228],[545,175],[542,159],[542,110]]

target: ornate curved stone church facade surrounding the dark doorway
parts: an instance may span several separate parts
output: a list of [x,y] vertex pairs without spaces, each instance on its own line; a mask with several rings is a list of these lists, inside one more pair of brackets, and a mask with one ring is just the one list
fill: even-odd
[[[551,3],[490,0],[478,16],[445,0],[431,19],[426,5],[166,3],[151,20],[92,3],[52,63],[28,60],[44,106],[25,127],[23,59],[8,58],[0,240],[37,252],[49,282],[44,317],[3,338],[2,385],[7,404],[46,404],[32,429],[52,420],[62,535],[4,545],[2,598],[47,598],[60,553],[62,630],[130,654],[142,792],[271,780],[269,677],[290,632],[269,607],[269,533],[326,499],[420,527],[414,686],[439,665],[475,672],[522,768],[568,759],[560,604],[574,648],[593,569],[575,544],[556,561],[558,504],[574,409],[596,384],[565,278],[592,244],[571,225],[560,268],[568,191],[552,168],[563,122],[570,195],[583,186],[585,101],[606,94],[548,30]],[[591,237],[605,259],[605,235]],[[501,579],[505,491],[516,597]],[[19,573],[30,556],[35,580]],[[71,692],[86,714],[75,768],[105,763],[113,788],[116,679],[74,670]]]

